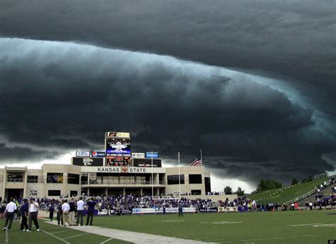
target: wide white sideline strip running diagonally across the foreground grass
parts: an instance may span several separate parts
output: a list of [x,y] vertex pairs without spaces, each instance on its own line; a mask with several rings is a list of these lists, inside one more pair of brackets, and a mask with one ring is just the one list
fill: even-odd
[[[45,223],[50,224],[57,224],[52,223],[50,221],[46,221]],[[138,233],[133,231],[123,231],[123,230],[116,230],[112,228],[103,228],[99,226],[68,226],[67,228],[71,228],[77,231],[84,231],[86,233],[93,233],[96,235],[103,235],[108,238],[118,239],[118,240],[125,240],[130,243],[206,243],[199,240],[188,240],[182,238],[174,238],[162,235],[152,235],[146,233]],[[63,240],[65,241],[65,240]]]

